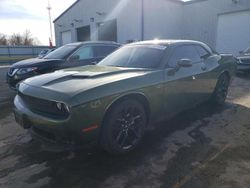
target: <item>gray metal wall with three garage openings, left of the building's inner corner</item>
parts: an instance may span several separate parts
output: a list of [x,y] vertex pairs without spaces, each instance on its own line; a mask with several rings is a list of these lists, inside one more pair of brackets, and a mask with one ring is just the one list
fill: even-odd
[[[76,28],[85,25],[91,26],[91,40],[97,40],[98,23],[112,19],[117,19],[117,39],[120,43],[129,40],[180,38],[182,4],[171,0],[158,1],[159,3],[155,3],[155,0],[81,0],[55,21],[56,45],[62,45],[61,33],[69,30],[72,42],[77,41]],[[97,12],[105,14],[99,15]],[[94,18],[93,22],[90,21],[91,18]]]

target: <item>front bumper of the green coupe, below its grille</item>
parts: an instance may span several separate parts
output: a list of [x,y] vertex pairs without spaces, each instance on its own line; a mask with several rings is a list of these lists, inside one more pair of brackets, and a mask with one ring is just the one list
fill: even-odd
[[[31,136],[42,142],[50,150],[72,150],[96,143],[96,134],[86,135],[77,126],[74,128],[72,116],[66,119],[47,118],[32,112],[17,95],[14,100],[16,122],[28,129]],[[93,136],[95,135],[95,136]]]

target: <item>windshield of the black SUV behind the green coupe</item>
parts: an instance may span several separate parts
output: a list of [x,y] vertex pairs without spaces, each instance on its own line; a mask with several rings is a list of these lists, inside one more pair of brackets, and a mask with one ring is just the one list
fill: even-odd
[[69,55],[73,50],[77,48],[76,45],[65,45],[53,52],[50,52],[44,57],[44,59],[63,59],[65,56]]

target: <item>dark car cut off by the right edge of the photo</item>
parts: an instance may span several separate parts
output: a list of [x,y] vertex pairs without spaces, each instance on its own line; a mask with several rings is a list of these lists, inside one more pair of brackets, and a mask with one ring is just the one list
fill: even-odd
[[237,72],[250,73],[250,46],[237,57]]

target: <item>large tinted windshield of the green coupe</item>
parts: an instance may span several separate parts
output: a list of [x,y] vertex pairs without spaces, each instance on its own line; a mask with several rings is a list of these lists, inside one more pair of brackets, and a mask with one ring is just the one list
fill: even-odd
[[156,68],[159,66],[166,46],[133,45],[125,46],[103,59],[98,65]]

